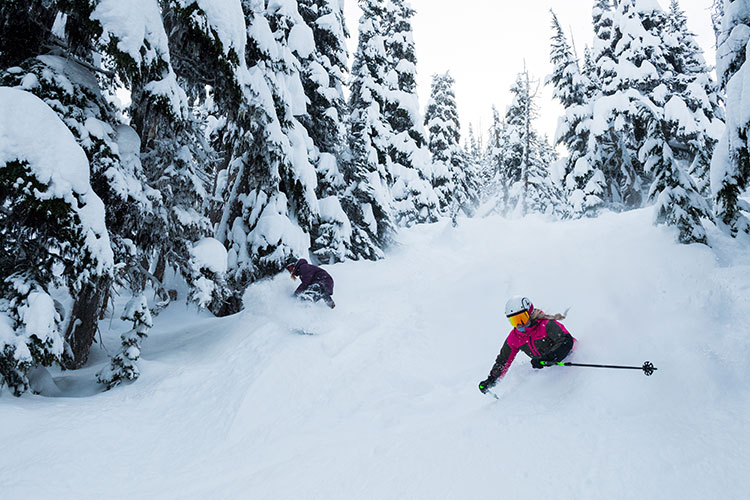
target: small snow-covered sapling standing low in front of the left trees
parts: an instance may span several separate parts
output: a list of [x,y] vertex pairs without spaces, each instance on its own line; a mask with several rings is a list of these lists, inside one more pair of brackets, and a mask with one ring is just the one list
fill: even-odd
[[106,390],[110,390],[126,380],[133,381],[140,377],[141,371],[136,363],[141,357],[141,343],[154,326],[146,297],[143,294],[130,299],[120,319],[132,321],[133,328],[120,336],[122,351],[112,357],[109,366],[104,367],[96,374],[97,380],[100,384],[106,386]]

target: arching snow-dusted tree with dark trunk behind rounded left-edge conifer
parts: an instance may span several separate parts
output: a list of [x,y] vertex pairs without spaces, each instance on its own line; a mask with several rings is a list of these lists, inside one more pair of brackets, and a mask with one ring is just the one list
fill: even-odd
[[[147,273],[140,263],[153,248],[157,224],[152,214],[158,194],[145,182],[140,152],[131,155],[128,150],[129,144],[140,144],[137,134],[130,127],[117,125],[116,112],[106,102],[94,74],[62,55],[28,59],[0,72],[0,83],[42,98],[73,133],[90,159],[91,185],[105,204],[115,262],[127,263],[116,267],[115,278],[120,284],[142,288]],[[68,368],[85,364],[96,320],[109,293],[110,283],[102,282],[75,298],[73,318],[67,322],[66,339],[73,346]]]

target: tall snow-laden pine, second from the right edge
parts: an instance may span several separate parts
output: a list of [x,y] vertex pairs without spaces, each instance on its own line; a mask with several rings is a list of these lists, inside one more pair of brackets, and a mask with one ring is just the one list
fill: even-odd
[[[682,243],[706,243],[701,218],[709,216],[708,207],[675,154],[677,149],[681,155],[697,156],[696,150],[710,148],[705,140],[709,125],[705,114],[702,109],[695,113],[687,104],[694,104],[693,96],[698,92],[706,94],[710,81],[705,67],[700,66],[700,54],[689,44],[691,37],[682,28],[684,22],[676,17],[677,8],[671,16],[674,24],[653,4],[639,7],[624,1],[620,9],[624,17],[633,19],[631,32],[623,33],[620,45],[629,47],[624,54],[626,61],[634,61],[641,68],[638,79],[629,80],[638,90],[630,99],[637,111],[634,129],[643,133],[642,138],[636,136],[640,141],[638,159],[644,174],[651,177],[648,199],[657,203],[656,222],[675,226]],[[674,39],[678,43],[670,46]],[[698,73],[703,75],[702,80],[696,78]],[[702,84],[696,87],[695,82]],[[709,106],[707,103],[705,107]],[[691,148],[690,140],[695,137],[700,137],[701,144]]]

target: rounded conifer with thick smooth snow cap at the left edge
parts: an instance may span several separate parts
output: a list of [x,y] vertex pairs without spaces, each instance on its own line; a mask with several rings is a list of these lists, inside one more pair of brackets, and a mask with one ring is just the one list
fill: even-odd
[[50,294],[77,300],[100,288],[114,260],[86,154],[42,100],[7,87],[0,87],[0,228],[0,385],[20,395],[32,367],[66,355]]

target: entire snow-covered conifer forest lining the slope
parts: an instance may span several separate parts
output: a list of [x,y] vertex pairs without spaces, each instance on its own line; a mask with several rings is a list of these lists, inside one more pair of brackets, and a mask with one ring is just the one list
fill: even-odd
[[552,74],[520,71],[463,146],[449,72],[422,112],[414,10],[358,3],[351,64],[341,0],[0,3],[0,387],[84,366],[115,296],[133,330],[108,387],[138,376],[169,279],[229,315],[297,258],[380,259],[441,218],[655,206],[683,243],[750,233],[746,2],[714,4],[718,81],[677,0],[595,0],[582,57],[552,14]]

